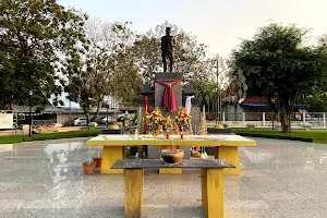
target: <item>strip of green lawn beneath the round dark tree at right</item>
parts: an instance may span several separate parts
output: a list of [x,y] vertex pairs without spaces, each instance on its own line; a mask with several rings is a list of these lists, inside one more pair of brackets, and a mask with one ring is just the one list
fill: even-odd
[[290,137],[306,137],[313,138],[314,143],[327,144],[327,131],[304,131],[294,130],[292,133],[286,134],[279,130],[267,130],[267,129],[232,129],[233,133],[241,134],[247,133],[256,136],[259,135],[275,135],[275,136],[290,136]]

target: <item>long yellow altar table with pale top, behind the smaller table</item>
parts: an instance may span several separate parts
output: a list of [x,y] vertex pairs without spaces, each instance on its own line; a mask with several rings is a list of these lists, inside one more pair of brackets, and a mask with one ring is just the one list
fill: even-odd
[[[86,141],[87,146],[104,146],[101,173],[122,174],[122,169],[110,169],[118,159],[125,159],[124,146],[152,145],[152,146],[204,146],[217,147],[217,159],[226,159],[235,168],[225,169],[225,174],[240,174],[240,159],[238,147],[256,146],[255,141],[240,135],[184,135],[181,140],[180,135],[170,135],[166,140],[164,135],[98,135]],[[161,170],[161,169],[160,169]],[[168,169],[169,170],[169,169]],[[174,169],[181,173],[181,169]],[[165,173],[165,169],[160,173]],[[168,173],[168,172],[166,172]]]

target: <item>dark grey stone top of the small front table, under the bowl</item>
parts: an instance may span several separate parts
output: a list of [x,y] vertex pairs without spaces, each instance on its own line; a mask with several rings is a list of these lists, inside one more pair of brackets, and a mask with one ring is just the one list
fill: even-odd
[[226,159],[183,159],[180,165],[168,165],[161,159],[120,159],[111,169],[144,169],[144,168],[234,168]]

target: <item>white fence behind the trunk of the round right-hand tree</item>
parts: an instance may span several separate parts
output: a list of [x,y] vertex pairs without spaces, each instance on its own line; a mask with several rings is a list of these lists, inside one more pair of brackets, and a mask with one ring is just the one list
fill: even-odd
[[[215,116],[216,117],[216,116]],[[272,126],[272,112],[243,112],[243,113],[225,113],[222,112],[222,122],[228,126],[247,126],[249,123],[255,126]],[[291,117],[291,125],[302,128],[311,124],[313,128],[327,128],[327,112],[295,112]],[[274,125],[278,125],[275,117]],[[214,125],[215,120],[208,121],[208,125]]]

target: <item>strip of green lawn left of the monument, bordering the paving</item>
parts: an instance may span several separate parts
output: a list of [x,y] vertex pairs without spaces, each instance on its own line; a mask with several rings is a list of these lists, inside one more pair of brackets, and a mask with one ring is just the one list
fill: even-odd
[[102,130],[82,130],[60,133],[45,133],[34,134],[31,137],[28,135],[8,135],[0,136],[0,144],[14,144],[32,141],[45,141],[45,140],[59,140],[59,138],[72,138],[72,137],[90,137],[101,133]]

